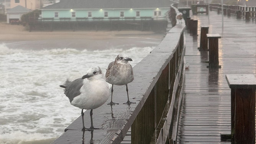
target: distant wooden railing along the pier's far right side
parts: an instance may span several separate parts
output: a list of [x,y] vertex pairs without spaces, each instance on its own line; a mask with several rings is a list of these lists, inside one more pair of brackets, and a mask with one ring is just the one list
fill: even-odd
[[[221,4],[210,4],[210,10],[221,11]],[[236,14],[237,18],[245,17],[246,20],[256,18],[256,7],[245,7],[241,5],[223,5],[224,15]]]

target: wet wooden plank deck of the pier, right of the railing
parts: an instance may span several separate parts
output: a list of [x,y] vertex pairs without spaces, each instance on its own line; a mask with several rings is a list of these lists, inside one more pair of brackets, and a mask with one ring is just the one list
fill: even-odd
[[[177,144],[230,144],[221,134],[231,133],[231,98],[226,74],[256,75],[256,20],[222,16],[191,15],[198,20],[198,36],[185,32],[185,88],[179,116]],[[208,51],[199,51],[200,27],[209,26],[209,34],[220,34],[219,65],[209,69]]]

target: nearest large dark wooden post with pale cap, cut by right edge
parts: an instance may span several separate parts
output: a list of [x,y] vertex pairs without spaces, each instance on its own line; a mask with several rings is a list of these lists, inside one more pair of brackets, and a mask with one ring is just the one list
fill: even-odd
[[229,74],[231,88],[231,141],[235,144],[255,144],[255,89],[253,74]]

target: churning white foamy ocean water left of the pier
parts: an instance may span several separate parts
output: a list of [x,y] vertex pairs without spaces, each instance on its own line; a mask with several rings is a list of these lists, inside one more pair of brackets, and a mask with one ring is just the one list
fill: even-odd
[[135,66],[153,48],[32,50],[0,43],[0,144],[51,143],[80,116],[60,84],[81,77],[95,65],[105,74],[109,62],[120,53],[130,56]]

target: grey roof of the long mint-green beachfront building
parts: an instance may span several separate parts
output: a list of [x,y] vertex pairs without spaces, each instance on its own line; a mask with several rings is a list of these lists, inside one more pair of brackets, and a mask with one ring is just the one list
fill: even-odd
[[169,8],[170,0],[61,0],[44,9]]

